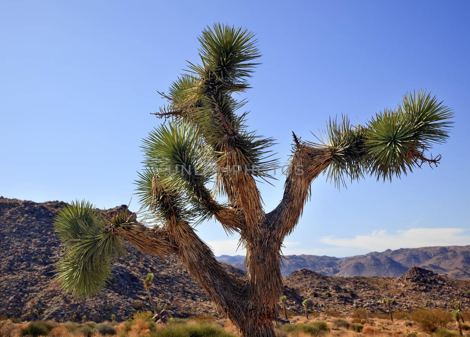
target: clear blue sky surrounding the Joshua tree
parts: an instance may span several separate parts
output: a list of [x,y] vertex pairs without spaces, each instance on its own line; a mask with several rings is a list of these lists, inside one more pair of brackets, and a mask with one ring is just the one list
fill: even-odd
[[[160,123],[150,114],[165,103],[157,90],[185,60],[197,62],[201,30],[223,22],[257,33],[263,64],[240,98],[249,98],[251,129],[279,142],[282,162],[292,131],[314,140],[330,115],[364,122],[410,90],[431,90],[455,112],[434,170],[340,192],[315,180],[285,254],[470,244],[469,10],[468,1],[4,0],[0,195],[129,202],[141,138]],[[260,186],[267,211],[283,182]],[[243,254],[218,224],[197,230],[216,254]]]

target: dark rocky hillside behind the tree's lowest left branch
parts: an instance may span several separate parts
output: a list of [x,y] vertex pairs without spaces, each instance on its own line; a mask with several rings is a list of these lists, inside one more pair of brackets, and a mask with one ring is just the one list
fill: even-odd
[[[53,281],[52,265],[59,240],[53,220],[64,202],[35,203],[0,197],[0,316],[31,320],[40,318],[80,320],[83,315],[97,322],[115,314],[132,316],[136,308],[151,307],[142,280],[155,273],[152,293],[160,304],[171,304],[180,316],[216,314],[211,300],[176,261],[143,255],[129,243],[127,256],[115,263],[110,286],[91,299],[65,296]],[[125,207],[125,206],[121,206]],[[243,271],[226,265],[231,273]],[[136,303],[137,301],[137,303]]]

